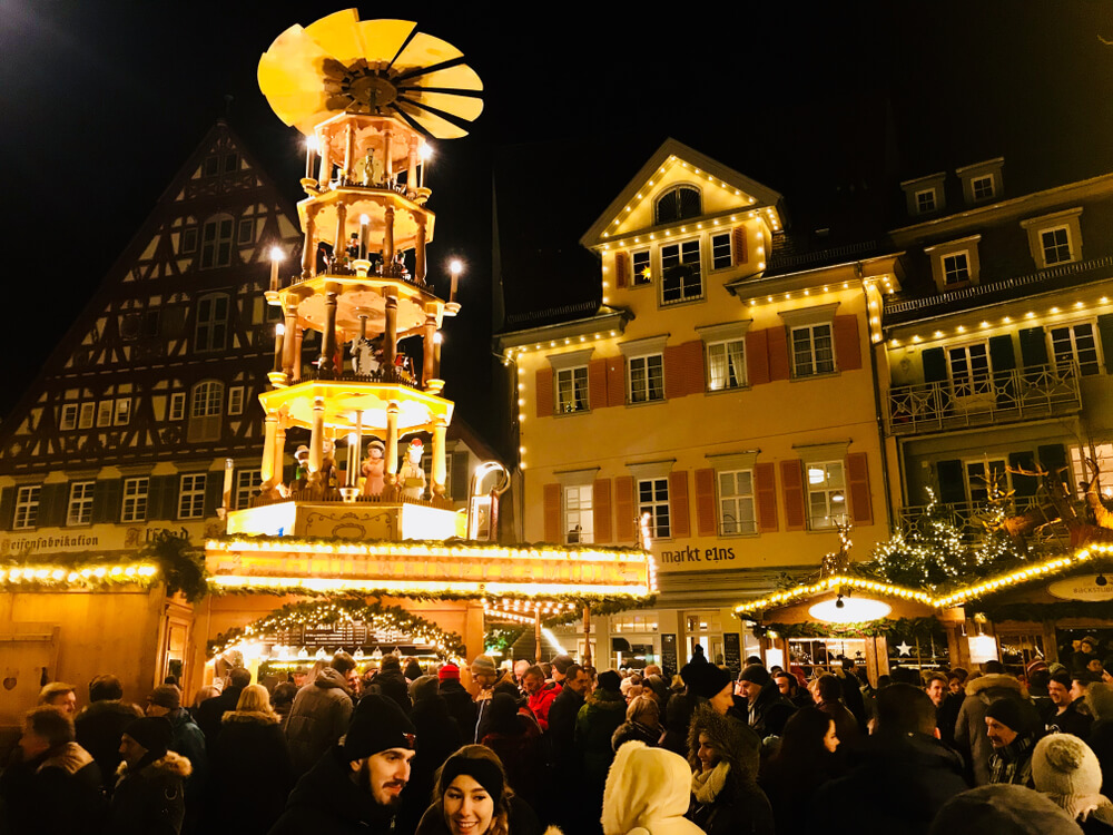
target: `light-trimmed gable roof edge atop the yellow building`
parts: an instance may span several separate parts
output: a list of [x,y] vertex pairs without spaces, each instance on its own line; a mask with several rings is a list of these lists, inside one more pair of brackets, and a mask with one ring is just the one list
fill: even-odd
[[[599,216],[599,219],[583,234],[583,237],[580,238],[580,244],[591,249],[605,243],[604,233],[608,232],[610,226],[614,225],[615,220],[624,216],[634,205],[652,199],[652,194],[648,190],[651,188],[649,184],[654,179],[657,174],[661,173],[662,169],[667,169],[670,165],[688,165],[697,176],[706,175],[720,188],[729,188],[738,196],[747,195],[752,203],[743,202],[739,205],[740,209],[757,209],[771,206],[776,207],[779,213],[782,208],[780,204],[784,198],[778,191],[739,174],[735,169],[700,154],[693,148],[689,148],[676,139],[669,138],[664,140],[646,165],[641,167],[633,179],[627,184],[626,188],[619,193],[618,197],[611,202],[603,214]],[[623,234],[628,234],[629,232],[632,230],[623,230]]]

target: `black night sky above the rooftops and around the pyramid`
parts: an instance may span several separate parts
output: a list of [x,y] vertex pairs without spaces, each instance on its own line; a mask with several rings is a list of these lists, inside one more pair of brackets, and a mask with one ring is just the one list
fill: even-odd
[[[288,26],[343,3],[0,0],[7,414],[213,121],[298,198],[256,85]],[[725,9],[729,8],[727,12]],[[430,274],[467,264],[449,396],[486,429],[492,194],[510,310],[598,294],[578,239],[669,136],[777,189],[797,228],[885,228],[900,179],[1005,157],[1006,193],[1113,170],[1111,0],[361,7],[416,20],[485,84],[437,144]],[[226,101],[230,96],[230,104]],[[853,210],[851,210],[853,207]],[[867,234],[868,229],[863,234]],[[439,272],[441,271],[441,272]],[[45,293],[45,287],[49,287]]]

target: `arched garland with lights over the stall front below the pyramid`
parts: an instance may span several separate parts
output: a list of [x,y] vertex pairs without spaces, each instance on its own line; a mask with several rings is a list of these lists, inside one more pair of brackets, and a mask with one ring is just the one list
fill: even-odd
[[397,606],[367,603],[362,598],[334,599],[329,602],[304,601],[289,603],[267,617],[243,628],[221,632],[209,642],[209,656],[237,650],[244,644],[262,637],[307,626],[332,626],[337,622],[367,625],[368,631],[390,630],[407,635],[418,644],[436,648],[441,656],[455,655],[462,649],[459,635],[445,632],[424,618],[411,615]]

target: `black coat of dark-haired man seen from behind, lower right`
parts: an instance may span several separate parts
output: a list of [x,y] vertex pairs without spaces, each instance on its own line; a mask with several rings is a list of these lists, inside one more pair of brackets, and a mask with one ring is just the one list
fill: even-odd
[[[944,803],[969,786],[962,758],[926,734],[874,734],[859,743],[846,777],[819,788],[801,814],[825,835],[926,835]],[[833,815],[850,798],[854,814]]]

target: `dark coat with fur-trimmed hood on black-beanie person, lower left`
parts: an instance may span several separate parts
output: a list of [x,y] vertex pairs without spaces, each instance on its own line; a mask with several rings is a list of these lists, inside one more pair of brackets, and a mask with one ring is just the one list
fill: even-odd
[[134,769],[121,763],[106,832],[112,835],[178,835],[186,815],[185,783],[189,760],[173,750],[140,759]]

